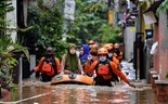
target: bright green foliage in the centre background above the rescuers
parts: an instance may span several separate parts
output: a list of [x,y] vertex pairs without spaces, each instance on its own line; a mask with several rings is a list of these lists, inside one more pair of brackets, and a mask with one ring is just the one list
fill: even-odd
[[76,0],[75,21],[70,23],[68,31],[68,35],[73,36],[72,41],[87,43],[93,39],[101,44],[118,40],[115,31],[118,28],[107,23],[106,6],[104,0],[98,2]]

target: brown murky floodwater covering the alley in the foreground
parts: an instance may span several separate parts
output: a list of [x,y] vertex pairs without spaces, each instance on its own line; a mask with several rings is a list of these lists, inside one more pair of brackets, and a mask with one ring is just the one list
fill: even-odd
[[[81,84],[20,87],[3,104],[159,104],[150,86],[135,89],[119,83],[113,88]],[[166,103],[165,103],[166,104]]]

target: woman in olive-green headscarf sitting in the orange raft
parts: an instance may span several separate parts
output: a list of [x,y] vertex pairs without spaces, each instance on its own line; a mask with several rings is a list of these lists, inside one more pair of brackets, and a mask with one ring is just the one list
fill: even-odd
[[83,69],[79,57],[76,54],[76,46],[72,43],[64,54],[61,62],[61,74],[82,74]]

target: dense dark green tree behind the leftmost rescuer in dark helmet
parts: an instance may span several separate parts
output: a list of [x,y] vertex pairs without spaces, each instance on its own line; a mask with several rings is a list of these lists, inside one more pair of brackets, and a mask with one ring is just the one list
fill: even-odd
[[49,46],[54,48],[59,57],[65,53],[67,43],[62,40],[64,18],[59,8],[61,5],[62,2],[49,9],[42,0],[38,0],[37,6],[33,5],[28,9],[28,25],[35,27],[29,31],[29,37],[33,39],[33,44],[39,48],[40,56],[44,55]]

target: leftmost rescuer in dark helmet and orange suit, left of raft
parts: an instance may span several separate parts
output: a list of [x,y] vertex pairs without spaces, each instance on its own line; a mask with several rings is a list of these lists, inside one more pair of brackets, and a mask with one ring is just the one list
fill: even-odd
[[61,72],[60,60],[54,57],[54,51],[51,47],[47,48],[46,56],[41,57],[38,66],[30,70],[33,73],[40,72],[42,81],[51,81],[52,77]]

